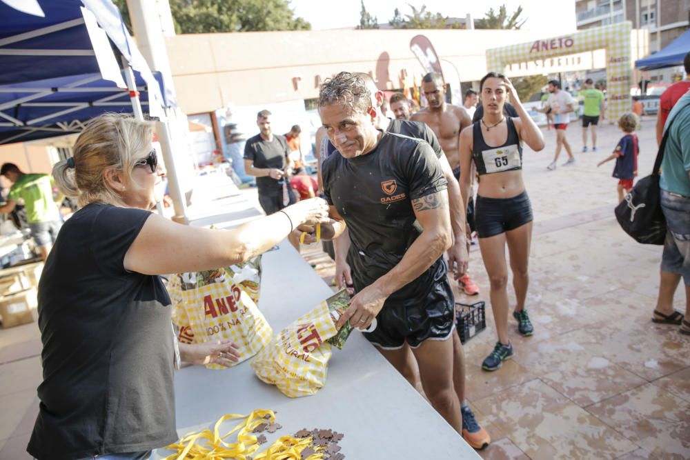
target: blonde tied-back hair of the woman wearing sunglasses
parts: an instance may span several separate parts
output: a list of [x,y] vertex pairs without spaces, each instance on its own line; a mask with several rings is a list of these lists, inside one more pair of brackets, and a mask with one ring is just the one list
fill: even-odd
[[[151,151],[152,123],[128,114],[106,113],[88,122],[72,148],[73,157],[52,168],[55,185],[79,206],[88,203],[123,205],[119,193],[108,185],[108,168],[121,170],[132,183],[135,164]],[[134,184],[137,187],[136,184]]]

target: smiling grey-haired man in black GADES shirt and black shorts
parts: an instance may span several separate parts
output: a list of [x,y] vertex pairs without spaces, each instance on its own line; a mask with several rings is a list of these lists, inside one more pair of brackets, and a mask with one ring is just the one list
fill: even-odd
[[453,388],[454,306],[443,253],[451,246],[446,179],[424,141],[377,130],[364,80],[349,72],[327,79],[319,114],[338,149],[324,161],[332,226],[348,228],[355,296],[339,320],[357,328],[400,369],[412,348],[433,407],[462,434]]

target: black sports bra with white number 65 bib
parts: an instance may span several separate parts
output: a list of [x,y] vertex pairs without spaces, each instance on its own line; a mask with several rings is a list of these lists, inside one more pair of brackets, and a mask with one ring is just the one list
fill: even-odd
[[482,121],[474,123],[472,131],[472,159],[480,176],[494,172],[522,169],[522,145],[511,117],[506,117],[508,139],[499,147],[487,146],[482,135]]

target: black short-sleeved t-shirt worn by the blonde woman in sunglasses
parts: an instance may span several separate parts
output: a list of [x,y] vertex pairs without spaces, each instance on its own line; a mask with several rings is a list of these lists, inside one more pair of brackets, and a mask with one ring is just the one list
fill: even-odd
[[151,213],[92,203],[62,226],[39,282],[41,400],[28,452],[72,460],[177,440],[170,297],[124,256]]

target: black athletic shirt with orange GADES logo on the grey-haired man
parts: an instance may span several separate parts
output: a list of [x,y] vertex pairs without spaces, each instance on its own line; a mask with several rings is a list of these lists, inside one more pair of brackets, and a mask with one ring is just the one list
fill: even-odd
[[[324,193],[350,231],[347,261],[359,292],[400,262],[422,233],[411,200],[446,189],[440,163],[428,143],[384,132],[374,150],[324,161]],[[418,303],[446,276],[440,257],[415,281],[388,300]]]

